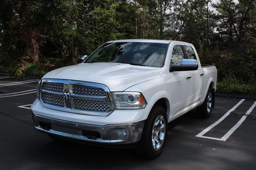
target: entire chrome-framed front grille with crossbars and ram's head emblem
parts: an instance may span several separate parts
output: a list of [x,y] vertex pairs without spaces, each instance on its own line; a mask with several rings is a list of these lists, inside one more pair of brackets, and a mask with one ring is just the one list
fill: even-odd
[[[43,79],[40,89],[42,105],[80,114],[107,116],[113,110],[109,89],[103,84],[75,80]],[[52,107],[51,105],[58,106]],[[86,112],[89,111],[89,112]]]

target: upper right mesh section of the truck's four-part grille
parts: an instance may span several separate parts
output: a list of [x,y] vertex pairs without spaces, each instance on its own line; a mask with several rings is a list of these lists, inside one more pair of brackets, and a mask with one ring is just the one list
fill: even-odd
[[79,84],[73,84],[73,94],[89,96],[106,96],[106,92],[102,88],[84,86]]

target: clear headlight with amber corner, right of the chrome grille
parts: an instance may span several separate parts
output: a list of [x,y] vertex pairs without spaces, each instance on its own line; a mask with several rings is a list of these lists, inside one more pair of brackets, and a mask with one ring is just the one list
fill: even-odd
[[146,107],[146,100],[139,92],[114,92],[116,109],[143,109]]

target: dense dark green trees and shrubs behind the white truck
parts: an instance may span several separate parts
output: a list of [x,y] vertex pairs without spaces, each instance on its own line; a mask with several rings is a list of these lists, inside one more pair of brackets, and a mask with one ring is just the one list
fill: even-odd
[[0,2],[0,71],[42,76],[108,40],[181,40],[216,65],[220,92],[255,94],[255,0]]

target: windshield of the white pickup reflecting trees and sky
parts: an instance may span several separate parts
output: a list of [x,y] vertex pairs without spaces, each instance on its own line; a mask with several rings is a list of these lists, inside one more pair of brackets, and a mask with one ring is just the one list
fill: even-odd
[[114,62],[130,65],[162,67],[168,44],[151,42],[105,43],[85,63]]

